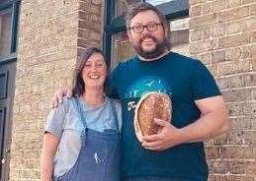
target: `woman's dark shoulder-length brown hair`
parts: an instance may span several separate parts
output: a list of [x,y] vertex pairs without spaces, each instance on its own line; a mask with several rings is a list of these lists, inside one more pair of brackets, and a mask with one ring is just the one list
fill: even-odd
[[[97,48],[97,47],[89,47],[86,50],[84,50],[82,52],[82,54],[80,55],[77,64],[76,64],[76,68],[74,71],[74,76],[73,76],[73,89],[72,89],[72,95],[73,96],[80,96],[84,93],[84,80],[82,78],[82,71],[83,68],[87,62],[87,60],[95,53],[101,54],[107,64],[107,71],[109,72],[109,65],[108,62],[106,61],[106,56],[104,55],[104,52]],[[107,81],[107,79],[106,79]],[[105,83],[106,83],[105,81]],[[104,89],[106,88],[105,86],[106,84],[104,84]]]

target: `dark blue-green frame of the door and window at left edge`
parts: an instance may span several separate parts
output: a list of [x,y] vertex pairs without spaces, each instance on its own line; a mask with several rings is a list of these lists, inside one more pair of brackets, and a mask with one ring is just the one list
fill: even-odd
[[[6,101],[6,122],[3,146],[3,157],[6,162],[2,164],[1,168],[1,180],[9,180],[9,164],[10,164],[10,148],[12,139],[12,120],[13,120],[13,103],[14,103],[14,92],[15,92],[15,76],[16,76],[16,62],[17,62],[17,32],[19,29],[19,14],[20,14],[21,0],[4,0],[0,2],[0,12],[12,8],[12,20],[11,20],[11,48],[8,55],[0,56],[0,66],[12,66],[12,75],[8,75],[10,85],[8,85],[8,92]],[[13,65],[12,65],[13,64]],[[9,69],[9,68],[8,68]],[[12,80],[10,80],[10,78]],[[12,92],[11,92],[12,91]],[[0,160],[2,161],[2,160]]]

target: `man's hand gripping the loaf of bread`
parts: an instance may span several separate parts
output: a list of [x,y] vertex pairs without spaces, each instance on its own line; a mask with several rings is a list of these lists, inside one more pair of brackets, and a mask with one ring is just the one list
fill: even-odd
[[151,151],[164,151],[182,144],[182,132],[161,119],[154,119],[155,123],[162,127],[158,134],[142,137],[142,147]]

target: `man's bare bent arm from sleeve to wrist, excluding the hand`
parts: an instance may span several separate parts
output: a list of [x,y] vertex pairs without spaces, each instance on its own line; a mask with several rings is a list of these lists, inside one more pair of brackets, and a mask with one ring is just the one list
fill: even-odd
[[181,131],[188,143],[205,142],[228,131],[229,119],[222,96],[196,100],[201,118]]

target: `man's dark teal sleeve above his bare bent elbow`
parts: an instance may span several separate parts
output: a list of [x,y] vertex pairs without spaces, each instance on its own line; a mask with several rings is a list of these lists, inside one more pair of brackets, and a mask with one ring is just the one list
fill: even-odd
[[208,68],[200,61],[196,61],[196,64],[197,66],[192,69],[194,99],[221,94]]

